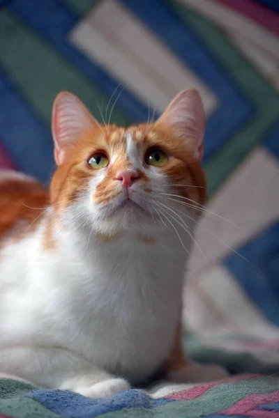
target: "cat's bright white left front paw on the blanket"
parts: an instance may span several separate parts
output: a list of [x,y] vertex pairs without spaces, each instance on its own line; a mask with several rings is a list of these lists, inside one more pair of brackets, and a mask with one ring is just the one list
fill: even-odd
[[122,378],[111,378],[95,383],[89,387],[77,389],[76,392],[90,398],[110,398],[119,392],[130,389],[130,384]]

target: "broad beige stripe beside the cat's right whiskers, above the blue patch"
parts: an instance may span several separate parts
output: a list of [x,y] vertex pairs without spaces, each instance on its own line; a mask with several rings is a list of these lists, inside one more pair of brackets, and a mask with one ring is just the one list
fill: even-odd
[[260,233],[279,218],[279,164],[264,148],[255,150],[243,160],[213,199],[208,209],[227,219],[204,213],[196,232],[206,261],[194,245],[190,271],[204,268],[217,258],[229,254],[244,242]]

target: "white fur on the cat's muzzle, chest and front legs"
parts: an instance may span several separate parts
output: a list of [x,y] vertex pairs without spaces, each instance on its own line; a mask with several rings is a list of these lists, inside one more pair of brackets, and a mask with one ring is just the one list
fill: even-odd
[[[152,194],[137,182],[130,188],[146,212],[119,208],[124,192],[107,206],[94,204],[101,169],[55,225],[55,249],[46,251],[42,239],[53,208],[24,239],[6,238],[0,250],[1,372],[98,397],[158,370],[174,341],[187,254],[167,217],[165,226],[152,219],[159,208],[154,201],[167,203],[160,194],[171,190],[167,179],[154,167],[146,173]],[[176,230],[190,249],[190,236],[179,224]],[[116,242],[97,238],[119,231]],[[140,242],[139,233],[156,244]]]

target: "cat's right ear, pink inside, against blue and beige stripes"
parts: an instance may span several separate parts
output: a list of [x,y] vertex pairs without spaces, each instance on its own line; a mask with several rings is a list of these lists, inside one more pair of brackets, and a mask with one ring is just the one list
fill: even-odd
[[204,108],[195,88],[183,90],[169,103],[156,124],[167,125],[174,137],[185,141],[195,160],[202,160]]

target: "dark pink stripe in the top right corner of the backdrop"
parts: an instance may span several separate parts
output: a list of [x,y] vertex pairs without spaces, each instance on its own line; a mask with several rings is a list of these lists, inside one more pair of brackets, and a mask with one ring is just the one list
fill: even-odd
[[251,17],[262,26],[266,26],[269,31],[279,36],[279,15],[272,10],[255,3],[252,0],[218,0],[225,3],[230,8],[238,10],[243,15]]

